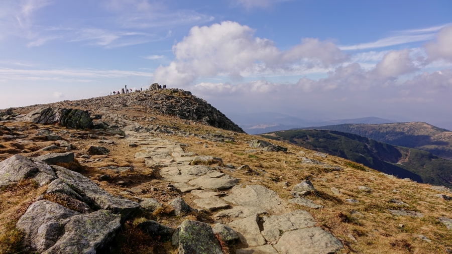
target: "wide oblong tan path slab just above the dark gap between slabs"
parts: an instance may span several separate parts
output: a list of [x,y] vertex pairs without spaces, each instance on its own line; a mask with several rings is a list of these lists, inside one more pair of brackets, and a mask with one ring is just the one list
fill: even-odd
[[236,205],[259,207],[273,213],[285,212],[285,202],[278,194],[262,185],[236,185],[231,194],[223,198]]

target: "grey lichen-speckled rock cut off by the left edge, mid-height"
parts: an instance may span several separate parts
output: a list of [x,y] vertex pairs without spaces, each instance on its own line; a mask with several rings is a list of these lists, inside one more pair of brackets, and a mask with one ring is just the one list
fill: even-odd
[[25,178],[32,178],[42,186],[56,179],[56,175],[48,165],[33,162],[22,155],[14,155],[0,162],[0,187],[17,183]]

